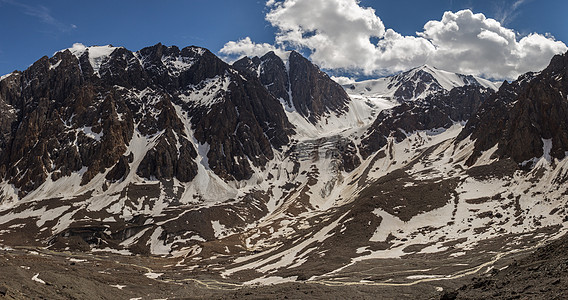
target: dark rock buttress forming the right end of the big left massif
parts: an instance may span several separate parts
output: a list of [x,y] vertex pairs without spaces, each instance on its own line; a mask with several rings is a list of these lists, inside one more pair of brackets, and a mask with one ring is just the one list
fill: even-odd
[[[195,138],[209,146],[209,167],[222,178],[250,178],[250,162],[263,166],[273,157],[272,147],[280,148],[288,143],[292,125],[279,101],[267,93],[258,80],[243,80],[208,50],[188,47],[180,51],[176,47],[156,45],[140,50],[139,55],[148,66],[149,77],[162,83],[173,95],[173,101],[191,116]],[[180,61],[191,67],[179,71],[174,66]],[[184,100],[185,95],[212,79],[218,80],[200,97],[213,96],[214,105]],[[218,86],[223,82],[229,82],[226,89]],[[191,180],[193,176],[188,178]]]

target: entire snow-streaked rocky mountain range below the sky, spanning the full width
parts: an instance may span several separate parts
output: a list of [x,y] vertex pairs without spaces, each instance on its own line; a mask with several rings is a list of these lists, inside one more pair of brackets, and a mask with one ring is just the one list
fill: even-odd
[[341,86],[295,51],[65,49],[0,79],[0,243],[248,285],[489,272],[565,232],[567,66]]

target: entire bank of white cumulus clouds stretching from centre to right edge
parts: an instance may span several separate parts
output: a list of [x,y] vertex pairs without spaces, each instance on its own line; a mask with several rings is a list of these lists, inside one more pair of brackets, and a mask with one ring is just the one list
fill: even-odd
[[357,0],[269,0],[266,20],[275,44],[250,38],[227,43],[224,55],[258,56],[306,49],[325,69],[385,75],[428,63],[440,69],[490,78],[514,78],[544,68],[568,48],[550,36],[519,37],[498,21],[471,10],[445,12],[423,31],[404,36],[387,28],[375,10]]

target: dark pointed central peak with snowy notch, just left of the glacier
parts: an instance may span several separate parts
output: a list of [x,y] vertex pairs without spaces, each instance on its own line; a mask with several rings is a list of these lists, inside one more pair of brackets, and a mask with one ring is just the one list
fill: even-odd
[[345,90],[295,51],[290,53],[288,69],[274,52],[261,58],[245,57],[233,66],[250,78],[260,79],[274,97],[312,123],[325,113],[341,114],[347,109],[349,96]]

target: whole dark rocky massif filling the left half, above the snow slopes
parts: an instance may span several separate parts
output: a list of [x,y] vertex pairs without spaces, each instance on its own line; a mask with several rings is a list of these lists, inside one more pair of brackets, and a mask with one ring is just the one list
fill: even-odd
[[[209,145],[216,174],[247,179],[251,163],[266,164],[293,133],[258,80],[243,79],[206,49],[109,49],[96,67],[91,48],[78,56],[65,50],[0,82],[0,176],[21,196],[83,168],[82,184],[105,172],[120,181],[131,171],[189,182],[198,168],[188,130]],[[155,142],[131,148],[135,135]],[[147,151],[136,169],[133,151]]]

